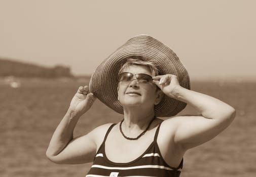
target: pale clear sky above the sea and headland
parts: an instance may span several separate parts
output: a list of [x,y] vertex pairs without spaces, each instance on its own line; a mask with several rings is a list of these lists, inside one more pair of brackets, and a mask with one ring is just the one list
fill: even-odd
[[256,1],[0,0],[0,58],[90,75],[131,37],[169,46],[191,79],[256,80]]

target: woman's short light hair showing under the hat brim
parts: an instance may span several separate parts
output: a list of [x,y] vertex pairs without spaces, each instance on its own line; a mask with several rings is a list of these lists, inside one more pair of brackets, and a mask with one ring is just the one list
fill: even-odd
[[124,69],[132,65],[147,66],[150,69],[153,77],[157,76],[159,73],[156,64],[152,60],[145,57],[134,56],[126,59],[126,62],[120,68],[118,75],[121,74],[124,71]]

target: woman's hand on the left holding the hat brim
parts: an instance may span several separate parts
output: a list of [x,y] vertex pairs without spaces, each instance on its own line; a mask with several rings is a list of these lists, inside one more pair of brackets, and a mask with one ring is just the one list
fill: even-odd
[[96,97],[89,93],[89,87],[80,86],[78,92],[72,98],[68,111],[73,115],[82,116],[93,105]]

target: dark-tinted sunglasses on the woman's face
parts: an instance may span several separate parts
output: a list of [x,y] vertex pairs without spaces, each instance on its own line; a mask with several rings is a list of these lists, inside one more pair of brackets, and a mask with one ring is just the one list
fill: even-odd
[[151,83],[153,78],[149,74],[132,74],[130,72],[122,72],[118,76],[118,81],[122,81],[124,84],[129,84],[132,80],[136,79],[139,83]]

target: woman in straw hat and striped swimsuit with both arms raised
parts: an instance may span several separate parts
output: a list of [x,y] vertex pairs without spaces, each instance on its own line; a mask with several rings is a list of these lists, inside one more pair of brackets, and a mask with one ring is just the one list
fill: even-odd
[[[190,90],[187,70],[171,49],[147,35],[128,40],[79,87],[47,150],[55,163],[92,162],[87,176],[179,176],[185,152],[220,134],[234,119],[226,103]],[[124,114],[73,137],[95,98]],[[175,116],[193,106],[200,115]],[[164,121],[157,117],[170,117]]]

